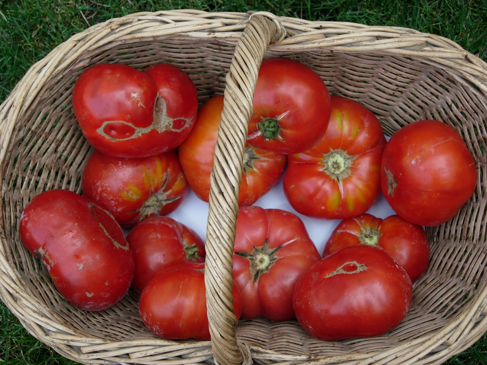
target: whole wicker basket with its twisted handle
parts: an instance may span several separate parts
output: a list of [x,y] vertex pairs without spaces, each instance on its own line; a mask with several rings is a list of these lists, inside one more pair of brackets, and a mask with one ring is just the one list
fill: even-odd
[[[463,136],[478,181],[449,222],[427,229],[431,264],[412,308],[386,335],[322,342],[297,321],[237,321],[231,314],[234,225],[251,100],[263,57],[313,68],[332,94],[372,110],[386,134],[440,119]],[[207,224],[206,291],[212,341],[166,341],[143,325],[129,292],[109,310],[69,305],[23,247],[25,204],[51,188],[80,192],[91,147],[71,108],[76,78],[99,62],[145,68],[172,63],[200,102],[225,91]],[[452,41],[411,29],[317,22],[269,13],[179,10],[137,13],[94,25],[56,47],[0,108],[0,297],[37,339],[84,364],[440,364],[487,330],[487,64]]]

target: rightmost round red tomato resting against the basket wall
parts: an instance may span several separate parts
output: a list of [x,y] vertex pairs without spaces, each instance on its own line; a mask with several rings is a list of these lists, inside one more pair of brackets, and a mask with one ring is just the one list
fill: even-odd
[[475,191],[472,154],[457,131],[421,120],[393,134],[382,157],[386,201],[402,218],[422,226],[451,219]]

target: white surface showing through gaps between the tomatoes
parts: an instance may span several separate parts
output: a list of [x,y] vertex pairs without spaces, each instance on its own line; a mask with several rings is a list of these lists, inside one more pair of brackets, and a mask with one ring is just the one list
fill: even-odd
[[[335,229],[340,219],[315,219],[296,212],[289,204],[282,190],[282,179],[253,205],[262,208],[277,208],[296,214],[304,222],[308,234],[315,243],[318,252],[322,254],[328,237]],[[367,211],[377,218],[386,218],[394,213],[382,194],[375,204]],[[168,215],[173,219],[193,229],[200,237],[206,237],[206,219],[208,217],[208,203],[199,199],[191,190],[188,191],[181,205]]]

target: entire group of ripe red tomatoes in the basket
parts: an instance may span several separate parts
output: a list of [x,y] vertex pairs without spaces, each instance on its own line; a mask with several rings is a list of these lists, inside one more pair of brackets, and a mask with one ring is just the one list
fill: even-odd
[[[198,109],[194,83],[172,65],[98,64],[72,96],[94,147],[82,193],[37,195],[20,217],[23,243],[77,308],[107,309],[131,288],[154,334],[208,340],[205,243],[168,215],[188,192],[208,201],[223,95]],[[474,193],[476,166],[457,131],[421,120],[388,140],[371,110],[276,57],[262,61],[246,142],[235,316],[296,318],[324,341],[398,326],[430,260],[423,227]],[[279,182],[290,209],[254,204]],[[369,213],[381,194],[396,213],[384,219]],[[321,253],[300,216],[338,220]]]

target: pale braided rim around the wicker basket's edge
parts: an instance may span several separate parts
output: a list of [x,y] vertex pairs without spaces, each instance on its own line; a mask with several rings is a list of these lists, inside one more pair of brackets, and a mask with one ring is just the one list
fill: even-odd
[[[137,36],[142,35],[142,38],[153,37],[157,32],[161,32],[162,28],[162,31],[175,32],[178,35],[182,32],[185,37],[218,37],[233,41],[241,37],[249,16],[250,13],[212,13],[189,9],[158,11],[155,13],[140,12],[94,24],[85,31],[70,37],[59,44],[46,57],[37,61],[0,105],[0,161],[3,164],[5,158],[9,156],[10,151],[7,146],[12,138],[17,117],[29,108],[30,103],[35,101],[36,92],[48,79],[49,74],[55,70],[58,71],[58,69],[68,68],[71,60],[76,55],[90,47],[94,47],[97,44],[96,41],[103,42],[104,39],[117,37],[117,31],[119,34],[130,33],[131,29],[136,27],[139,27],[140,30],[134,34]],[[487,63],[463,50],[457,43],[447,38],[402,27],[366,26],[350,22],[308,21],[289,17],[276,18],[279,19],[287,31],[287,36],[273,46],[276,51],[312,50],[326,47],[335,53],[360,53],[380,50],[382,53],[403,55],[405,57],[420,57],[429,54],[432,62],[436,62],[441,67],[455,68],[462,77],[470,81],[487,98]],[[163,24],[161,27],[161,22],[167,24],[167,26],[164,27]],[[76,48],[80,44],[82,46]],[[35,81],[34,84],[33,80]],[[4,175],[2,172],[0,176],[2,183],[3,179]],[[3,195],[4,191],[2,189],[2,198]],[[4,219],[4,205],[3,202],[0,202],[0,204],[2,206],[0,217]],[[6,242],[7,237],[2,227],[1,241]],[[117,343],[99,338],[90,338],[84,333],[70,328],[67,323],[58,323],[59,318],[50,315],[47,306],[40,301],[33,301],[29,293],[23,290],[21,279],[15,273],[15,269],[11,267],[11,263],[7,261],[3,250],[4,246],[2,244],[0,246],[0,299],[14,312],[33,336],[47,345],[55,347],[56,351],[63,353],[64,356],[74,358],[75,352],[70,346],[79,347],[80,352],[85,355],[81,358],[74,358],[77,361],[80,361],[80,359],[89,361],[90,357],[86,356],[86,354],[93,354],[104,349],[145,348],[149,344],[156,347],[168,346],[169,344],[174,347],[186,348],[188,346],[185,342],[154,339]],[[26,304],[29,302],[30,305]],[[418,342],[427,339],[421,345],[418,346],[413,341],[409,344],[409,347],[405,348],[414,352],[413,358],[418,360],[438,347],[438,343],[446,339],[451,341],[456,338],[465,342],[459,347],[456,347],[457,342],[453,342],[450,344],[450,348],[454,352],[460,352],[473,344],[487,330],[486,308],[487,286],[482,290],[479,297],[473,303],[470,303],[466,310],[467,313],[459,314],[456,321],[450,323],[449,326],[436,333],[435,336],[424,335],[419,337],[417,339]],[[455,330],[457,328],[458,330]],[[466,334],[467,329],[471,329],[471,335]],[[194,344],[191,341],[188,343]],[[211,342],[200,342],[198,346],[207,348],[206,352],[202,350],[205,353],[201,355],[202,361],[211,356]],[[261,359],[306,362],[310,359],[326,357],[286,356],[263,349],[256,344],[239,342],[239,346],[242,352],[252,353],[251,356]],[[123,351],[120,351],[120,353],[123,353]],[[360,356],[369,355],[362,354]],[[392,355],[389,353],[373,354],[370,361],[376,360],[379,363],[386,359],[387,356]],[[448,355],[448,352],[445,354],[438,351],[436,355],[431,356],[434,361],[441,361]],[[359,355],[357,356],[360,357]],[[407,358],[406,355],[402,356]],[[408,356],[411,357],[410,354]],[[339,360],[339,357],[337,357],[337,360]]]

